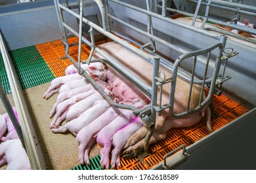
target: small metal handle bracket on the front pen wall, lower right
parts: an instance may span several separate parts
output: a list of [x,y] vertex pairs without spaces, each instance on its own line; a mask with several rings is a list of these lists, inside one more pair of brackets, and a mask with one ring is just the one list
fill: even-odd
[[[186,153],[185,147],[186,145],[179,146],[179,148],[176,148],[175,150],[172,150],[171,152],[165,154],[165,156],[163,156],[163,169],[174,169],[175,167],[181,165],[181,163],[186,161],[186,159],[188,159],[189,154]],[[182,149],[182,151],[177,152],[180,149]],[[168,156],[171,157],[167,159]]]

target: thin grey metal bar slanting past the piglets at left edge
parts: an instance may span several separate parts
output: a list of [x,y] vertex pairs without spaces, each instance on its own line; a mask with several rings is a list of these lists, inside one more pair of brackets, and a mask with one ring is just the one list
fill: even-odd
[[0,81],[0,97],[1,97],[1,101],[5,107],[5,109],[7,110],[7,113],[12,121],[12,124],[14,126],[14,129],[16,131],[16,133],[18,134],[18,138],[20,139],[20,141],[22,142],[22,146],[25,148],[26,150],[26,146],[25,146],[25,142],[24,142],[24,138],[22,136],[22,130],[20,127],[20,124],[18,123],[18,120],[12,110],[12,105],[7,97],[7,94],[5,93],[5,90],[3,90],[3,86],[1,84]]

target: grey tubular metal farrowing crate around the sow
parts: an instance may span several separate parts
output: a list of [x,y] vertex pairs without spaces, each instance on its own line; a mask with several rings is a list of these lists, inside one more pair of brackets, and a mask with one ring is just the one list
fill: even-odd
[[[202,29],[197,29],[196,27],[192,27],[190,25],[179,24],[169,18],[160,16],[159,14],[156,14],[156,13],[150,11],[150,9],[152,8],[151,7],[152,4],[150,4],[150,1],[147,1],[148,10],[144,10],[142,8],[135,7],[133,5],[129,5],[127,3],[123,3],[123,2],[117,1],[117,0],[108,0],[108,1],[105,1],[104,3],[102,3],[102,1],[100,1],[100,0],[94,0],[94,1],[100,8],[103,27],[100,27],[81,16],[83,14],[83,0],[79,1],[79,5],[80,5],[79,14],[73,12],[69,8],[60,4],[60,0],[54,0],[55,5],[57,7],[56,8],[57,14],[59,16],[58,20],[60,20],[60,24],[62,25],[61,30],[62,30],[62,35],[63,35],[63,43],[64,43],[64,46],[66,47],[66,56],[75,65],[75,67],[77,68],[77,71],[79,71],[79,73],[81,75],[85,76],[85,78],[87,78],[87,80],[95,87],[96,90],[98,90],[98,92],[100,94],[102,94],[102,96],[111,105],[113,105],[114,107],[118,107],[118,108],[126,108],[129,110],[133,110],[134,114],[137,116],[140,116],[140,118],[145,122],[145,124],[150,127],[150,130],[148,131],[148,135],[146,136],[146,141],[144,142],[144,150],[147,150],[149,139],[154,131],[154,124],[156,122],[156,112],[159,112],[159,114],[160,114],[161,110],[163,110],[164,108],[170,108],[171,116],[176,117],[176,118],[181,118],[181,117],[188,116],[189,114],[192,114],[193,112],[200,110],[202,107],[204,107],[211,101],[213,92],[215,91],[215,84],[217,81],[217,77],[219,75],[219,69],[220,69],[220,65],[221,65],[221,56],[223,54],[222,51],[223,51],[224,45],[226,43],[226,37],[214,35],[213,33],[209,33]],[[106,7],[108,7],[108,2],[110,2],[110,1],[112,3],[117,3],[118,5],[128,7],[128,8],[131,8],[131,9],[134,9],[134,10],[137,10],[139,12],[146,14],[148,16],[147,31],[146,32],[142,31],[141,29],[139,29],[131,24],[128,24],[127,22],[124,22],[123,20],[120,20],[119,18],[113,16],[112,14],[107,13],[108,10],[104,7],[104,5],[106,5]],[[79,19],[79,22],[80,22],[79,32],[75,31],[74,29],[72,29],[72,27],[70,27],[69,25],[67,25],[65,23],[64,17],[62,16],[62,11],[66,11],[66,12],[70,13],[72,16],[75,16],[75,18]],[[152,28],[152,22],[151,22],[152,17],[158,18],[165,22],[168,22],[169,24],[178,25],[179,27],[182,27],[184,29],[189,29],[196,33],[201,33],[204,36],[211,37],[212,39],[215,39],[217,43],[214,44],[213,46],[210,46],[209,48],[205,48],[202,50],[196,50],[194,52],[188,52],[187,50],[179,48],[178,46],[171,44],[170,42],[164,41],[163,39],[160,39],[160,38],[154,36],[152,34],[152,31],[149,31]],[[110,27],[108,27],[109,19],[116,20],[117,22],[134,29],[135,31],[138,31],[139,33],[147,35],[150,38],[150,44],[153,41],[157,41],[157,42],[160,42],[161,44],[164,44],[168,48],[171,48],[173,50],[177,50],[178,52],[180,52],[182,55],[179,57],[179,59],[177,61],[175,61],[175,64],[173,65],[173,77],[171,79],[168,78],[167,80],[162,79],[160,77],[160,74],[159,74],[160,57],[147,54],[143,51],[143,49],[146,46],[148,46],[148,44],[144,44],[141,47],[141,50],[139,50],[138,48],[131,46],[131,44],[123,41],[122,39],[119,39],[119,37],[116,37],[116,35],[113,35],[112,33],[110,33],[110,29],[109,29]],[[85,23],[85,24],[88,24],[89,26],[91,26],[91,32],[93,31],[93,29],[95,29],[96,31],[102,33],[106,37],[112,39],[113,41],[116,41],[117,43],[121,44],[128,50],[131,50],[138,56],[140,56],[140,57],[146,59],[148,62],[152,63],[152,66],[153,66],[152,67],[153,68],[152,87],[149,87],[146,84],[144,84],[136,76],[129,73],[129,71],[127,71],[127,69],[125,69],[121,65],[119,65],[119,63],[117,63],[114,59],[112,59],[111,56],[108,56],[106,53],[104,53],[102,50],[100,50],[97,46],[95,46],[95,42],[93,41],[93,33],[90,33],[91,42],[88,39],[86,39],[85,37],[83,37],[83,35],[81,33],[81,26],[82,26],[81,24],[82,23]],[[69,44],[68,44],[68,39],[66,37],[66,29],[68,29],[70,32],[72,32],[75,36],[79,37],[79,50],[78,50],[79,55],[81,54],[81,42],[83,41],[83,42],[85,42],[85,44],[91,46],[91,48],[92,48],[91,52],[93,52],[93,50],[96,50],[96,52],[98,52],[100,55],[102,55],[104,58],[106,58],[106,60],[92,60],[92,61],[102,61],[104,63],[107,63],[108,65],[113,67],[113,69],[115,69],[118,73],[121,73],[121,75],[123,75],[125,78],[127,78],[127,80],[129,80],[130,82],[135,84],[135,86],[137,86],[137,88],[139,88],[139,90],[141,90],[143,93],[148,95],[148,97],[150,97],[150,99],[151,99],[150,105],[143,107],[140,110],[137,110],[137,108],[132,107],[132,106],[120,105],[120,104],[114,103],[112,101],[112,99],[110,97],[108,97],[108,95],[106,95],[106,93],[104,93],[104,91],[98,86],[98,84],[96,84],[96,82],[89,75],[87,75],[87,73],[85,71],[83,71],[83,69],[80,68],[80,64],[81,64],[80,57],[76,62],[68,54]],[[215,50],[216,48],[218,49],[218,51],[217,51],[217,56],[215,58],[214,63],[212,61],[209,61],[210,60],[209,56],[206,60],[200,57],[200,55],[202,55],[202,54],[206,54],[206,53],[210,54],[211,51]],[[175,85],[176,85],[176,78],[178,75],[179,65],[180,65],[181,61],[183,61],[186,58],[191,58],[191,57],[195,58],[194,59],[194,67],[196,67],[196,62],[200,61],[201,63],[204,63],[205,65],[207,65],[207,67],[209,66],[211,69],[213,69],[213,76],[211,76],[211,78],[206,78],[206,75],[205,75],[203,80],[200,80],[200,79],[195,78],[194,73],[192,73],[192,75],[190,75],[190,76],[187,76],[186,74],[182,74],[182,73],[179,73],[179,75],[182,76],[182,78],[184,78],[188,82],[190,82],[190,86],[191,86],[190,93],[191,93],[193,84],[202,84],[202,86],[204,86],[204,84],[211,83],[211,87],[209,88],[210,92],[209,92],[209,95],[207,96],[207,98],[205,99],[205,101],[200,100],[200,101],[202,101],[202,103],[198,104],[197,108],[195,108],[195,109],[188,108],[188,110],[186,112],[182,112],[181,114],[174,114],[174,112],[173,112],[174,93],[175,93]],[[89,59],[87,59],[87,61],[83,61],[83,63],[90,63],[90,62],[91,62],[91,54],[90,54]],[[208,69],[207,67],[205,68],[205,73],[207,73],[207,69]],[[167,82],[171,82],[171,93],[170,93],[169,104],[165,104],[165,105],[158,107],[157,106],[158,86],[161,86],[162,84],[166,84]],[[203,93],[203,87],[202,87],[202,93]],[[160,101],[160,103],[161,103],[161,101]],[[188,103],[188,106],[189,106],[189,103]]]

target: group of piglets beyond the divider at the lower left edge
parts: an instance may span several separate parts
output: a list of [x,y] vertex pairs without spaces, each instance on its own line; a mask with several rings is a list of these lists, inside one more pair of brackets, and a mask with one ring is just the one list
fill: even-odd
[[[18,119],[16,108],[12,107],[12,110]],[[31,169],[26,151],[7,113],[0,115],[0,140],[0,167],[8,164],[7,169]]]

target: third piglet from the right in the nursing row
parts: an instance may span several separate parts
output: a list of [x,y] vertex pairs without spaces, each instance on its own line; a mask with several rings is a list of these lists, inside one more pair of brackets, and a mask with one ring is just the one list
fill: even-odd
[[104,126],[110,124],[110,122],[112,122],[119,114],[119,109],[116,107],[110,107],[103,114],[98,116],[98,118],[93,120],[93,122],[83,127],[83,129],[77,133],[76,140],[79,144],[78,150],[80,163],[90,165],[89,151],[93,143],[96,141],[96,134]]

